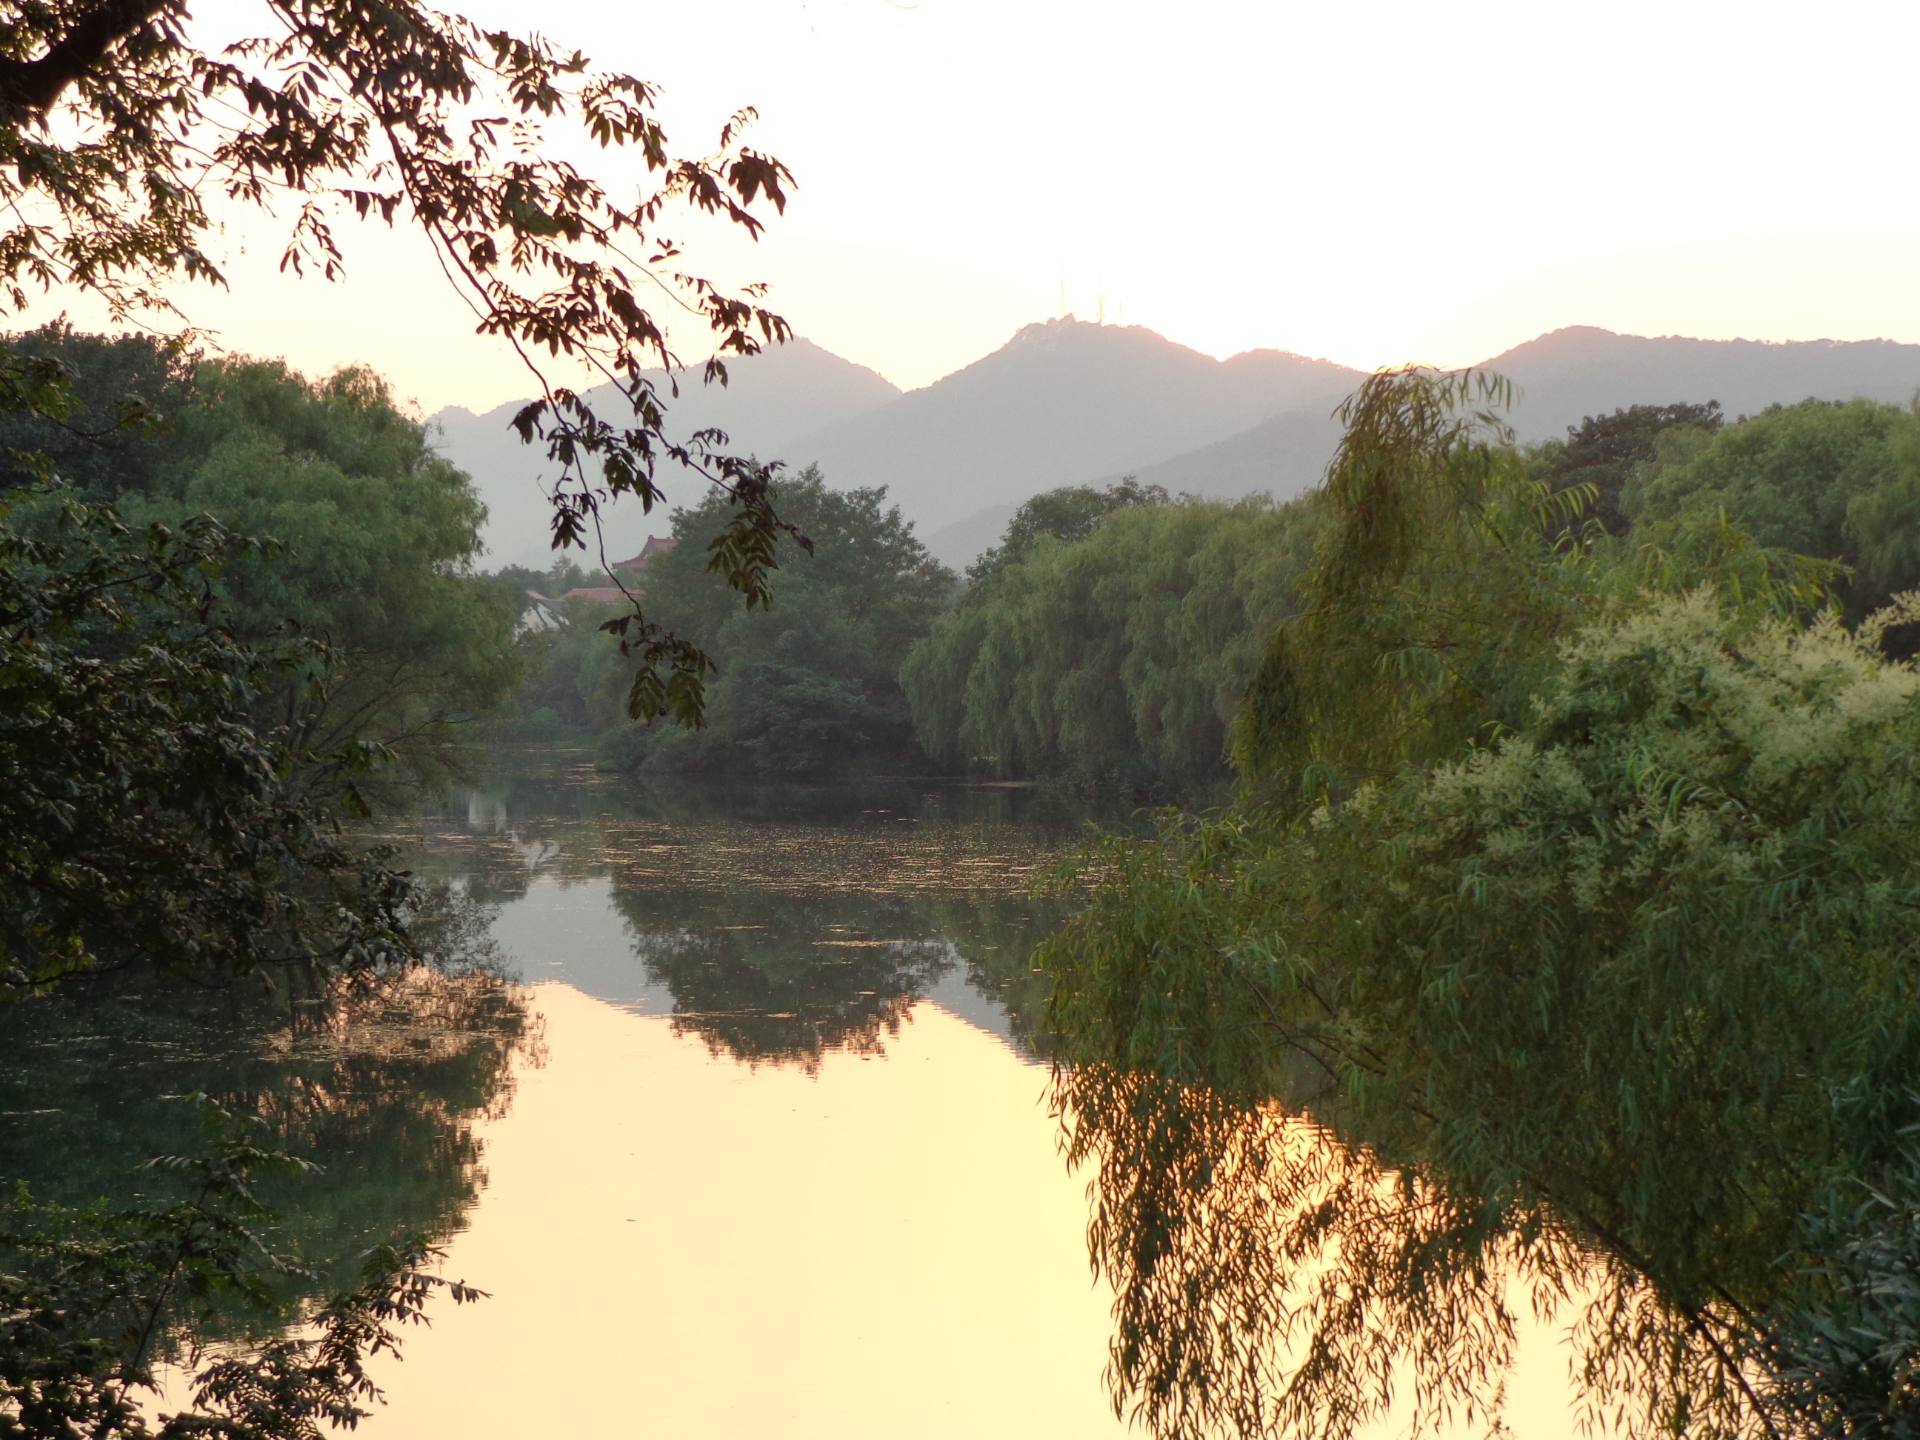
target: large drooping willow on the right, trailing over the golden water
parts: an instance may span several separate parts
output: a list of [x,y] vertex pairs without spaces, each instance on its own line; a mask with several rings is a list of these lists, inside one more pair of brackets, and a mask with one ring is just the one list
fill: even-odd
[[1116,1400],[1338,1438],[1400,1384],[1436,1432],[1532,1311],[1632,1434],[1910,1434],[1912,605],[1569,524],[1501,397],[1356,396],[1240,797],[1106,841],[1041,948]]

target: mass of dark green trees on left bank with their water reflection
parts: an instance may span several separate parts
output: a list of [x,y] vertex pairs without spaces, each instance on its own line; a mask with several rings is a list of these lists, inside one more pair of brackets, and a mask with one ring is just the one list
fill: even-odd
[[[129,413],[129,376],[165,422]],[[459,899],[349,829],[444,774],[513,674],[461,572],[478,507],[361,372],[50,330],[8,348],[0,392],[0,1085],[27,1152],[0,1208],[0,1432],[305,1434],[372,1398],[367,1356],[428,1296],[468,1298],[430,1246],[526,1033]],[[232,1081],[148,1114],[192,1044]],[[367,1083],[409,1066],[403,1096]],[[123,1121],[180,1148],[115,1154]],[[284,1183],[369,1129],[419,1158],[380,1204],[351,1165]],[[156,1430],[156,1365],[242,1334]]]

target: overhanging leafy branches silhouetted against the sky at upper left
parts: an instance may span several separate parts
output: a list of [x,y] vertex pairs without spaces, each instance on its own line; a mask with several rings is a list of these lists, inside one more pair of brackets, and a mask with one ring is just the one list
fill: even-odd
[[[739,111],[707,157],[676,154],[653,115],[655,88],[597,73],[538,36],[486,29],[415,0],[269,0],[271,31],[221,54],[188,40],[186,0],[15,0],[0,10],[0,296],[29,286],[104,296],[119,315],[167,309],[175,278],[223,282],[204,250],[205,196],[296,205],[282,269],[344,271],[342,215],[409,221],[449,282],[526,361],[540,397],[515,417],[553,467],[557,547],[582,545],[601,503],[651,509],[660,463],[712,480],[730,518],[712,563],[756,605],[785,526],[766,467],[718,432],[674,436],[649,365],[676,365],[641,303],[662,286],[724,357],[783,340],[760,292],[730,294],[682,269],[662,225],[714,215],[749,234],[756,204],[785,205],[791,175],[743,140]],[[653,188],[632,202],[557,157],[543,127],[637,156]],[[536,359],[564,359],[616,386],[603,417]],[[705,659],[634,611],[622,643],[639,659],[637,710],[697,720]],[[662,674],[664,672],[664,674]]]

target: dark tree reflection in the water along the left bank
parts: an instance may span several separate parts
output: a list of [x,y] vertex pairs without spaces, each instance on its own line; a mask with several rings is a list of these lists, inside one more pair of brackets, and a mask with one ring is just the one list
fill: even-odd
[[171,1098],[204,1091],[321,1165],[257,1185],[284,1248],[321,1267],[286,1308],[351,1284],[369,1246],[457,1231],[486,1183],[474,1123],[507,1108],[515,1056],[540,1058],[520,993],[488,973],[420,973],[292,1029],[232,995],[163,1000],[123,985],[0,1010],[0,1188],[165,1200],[167,1171],[142,1162],[204,1152],[198,1114]]

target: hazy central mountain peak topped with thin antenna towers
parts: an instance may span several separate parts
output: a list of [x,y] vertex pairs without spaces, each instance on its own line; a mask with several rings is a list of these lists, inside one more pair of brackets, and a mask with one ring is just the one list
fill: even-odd
[[[1144,470],[1275,411],[1331,407],[1357,382],[1357,371],[1331,361],[1279,349],[1217,361],[1144,326],[1068,317],[801,436],[783,457],[818,463],[835,486],[887,486],[920,534],[935,536],[987,509],[1010,515],[1054,486]],[[945,549],[935,553],[952,563]]]

